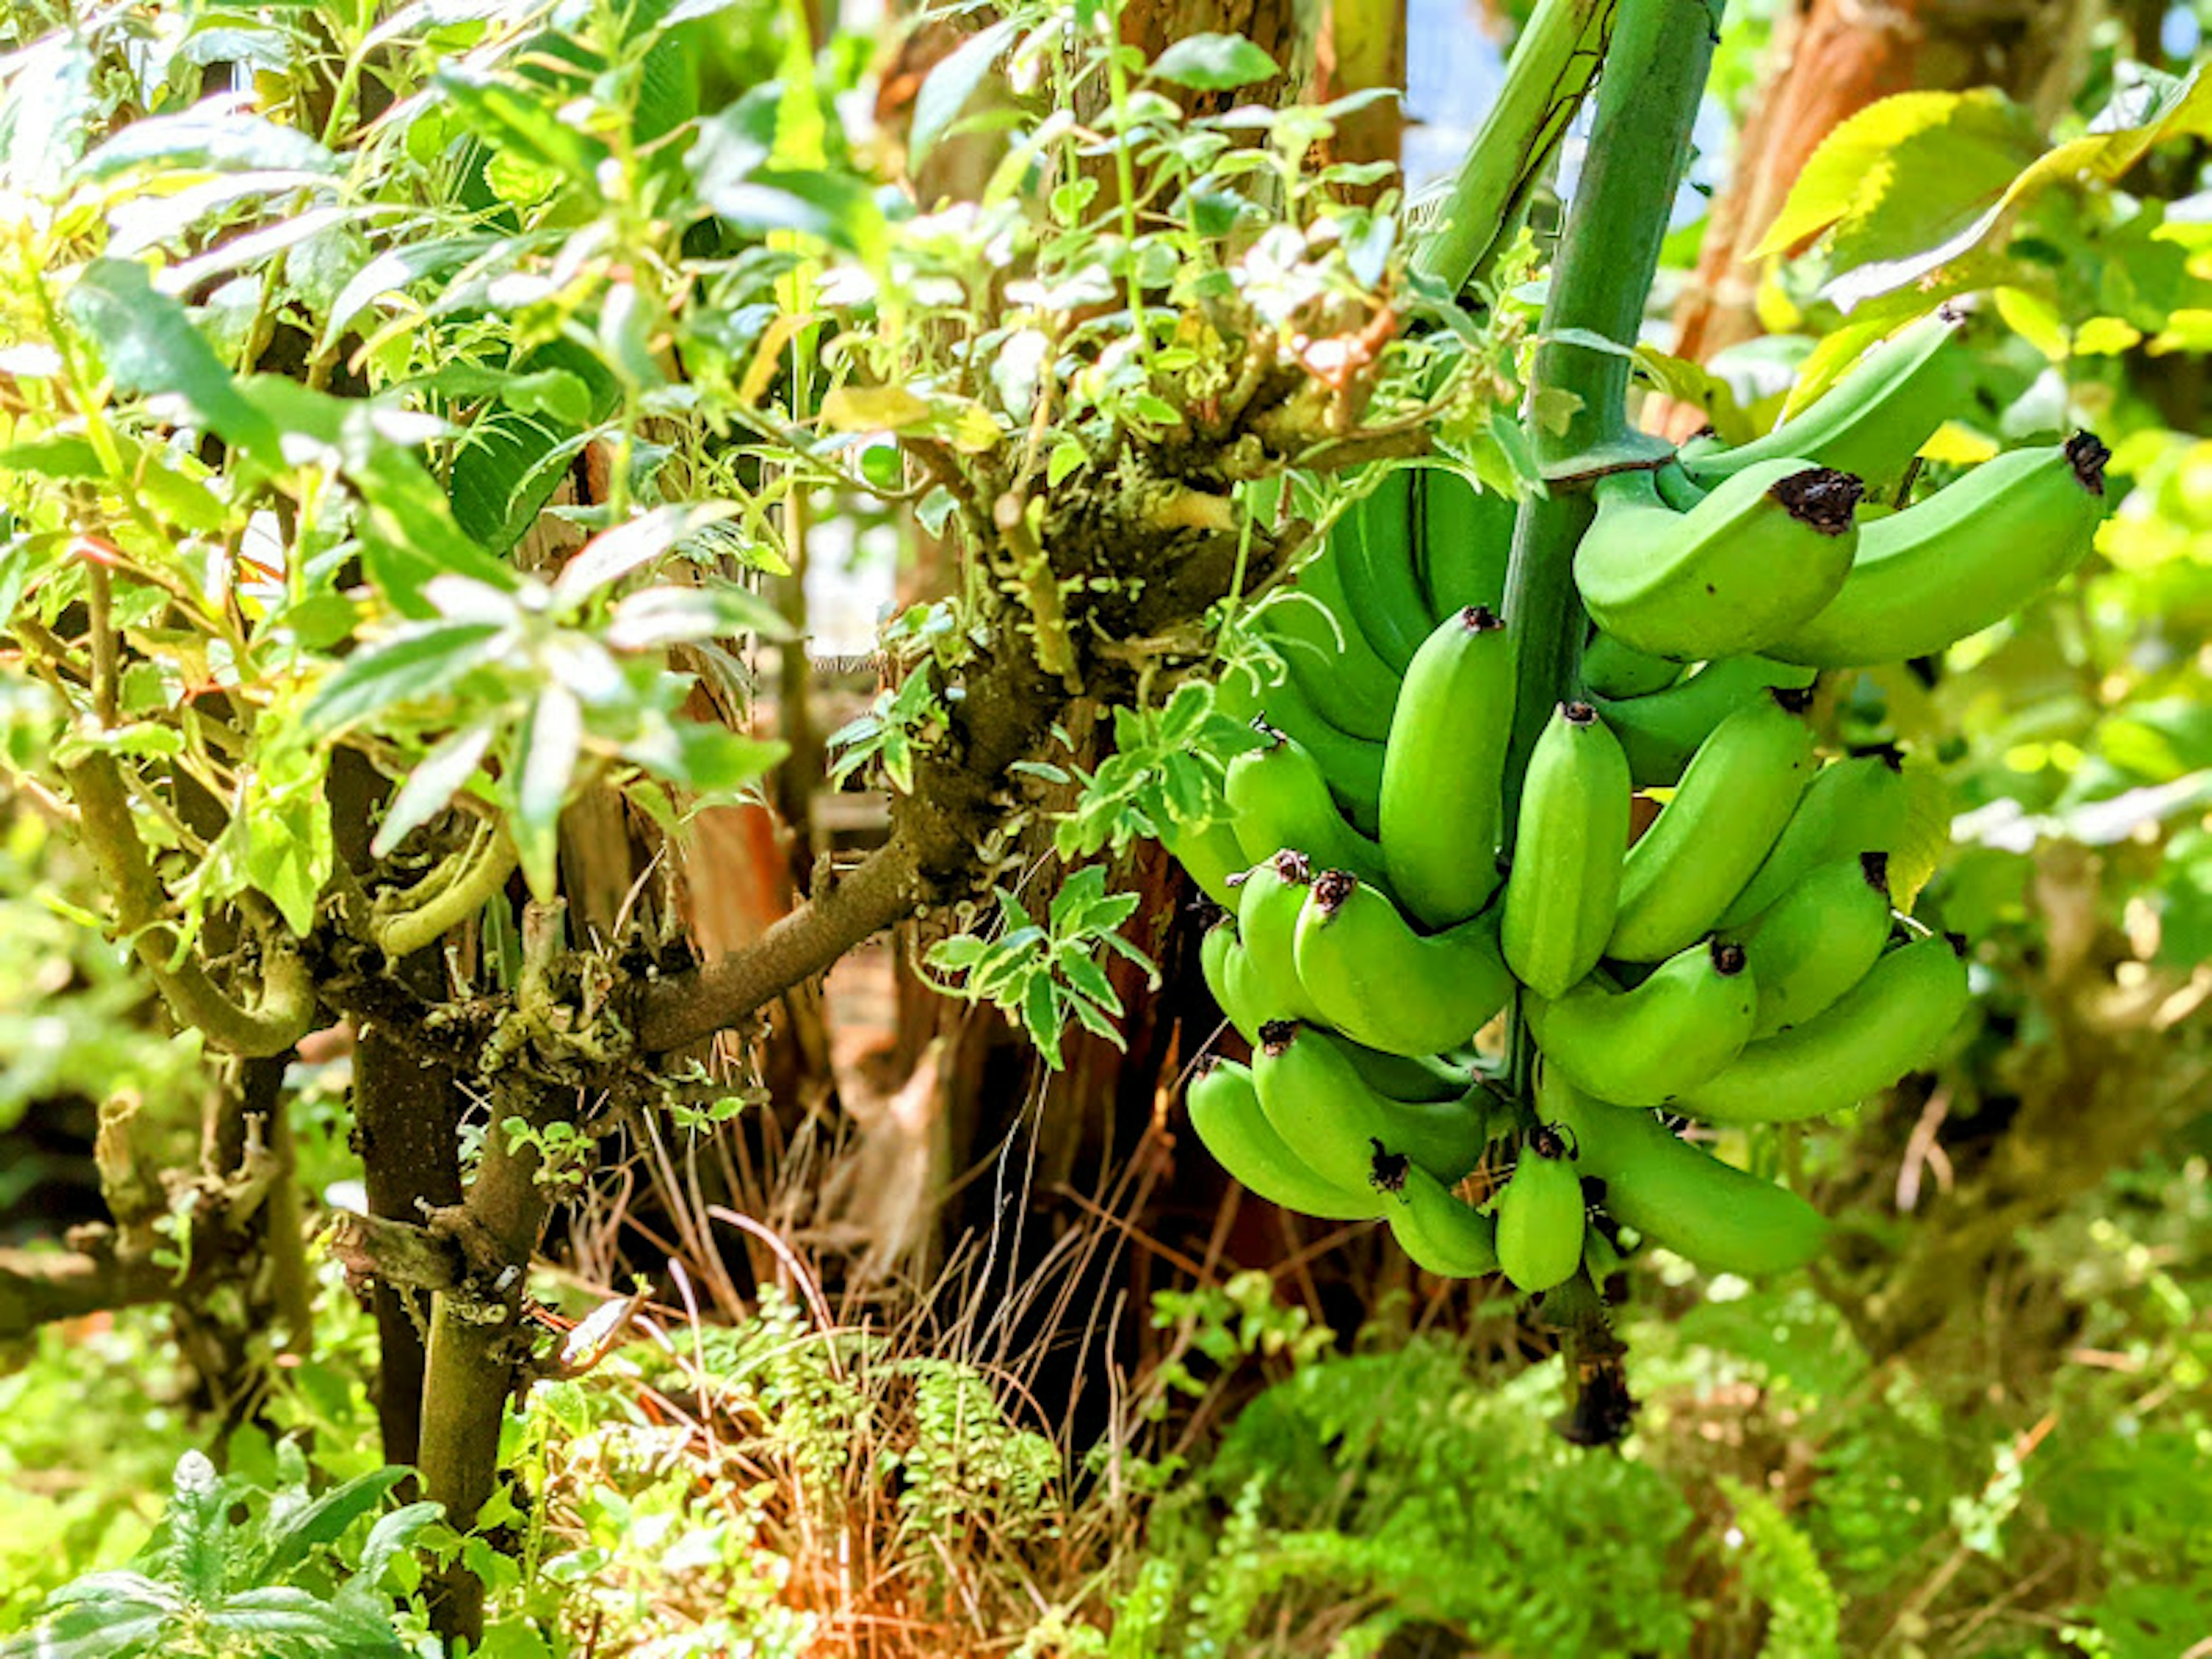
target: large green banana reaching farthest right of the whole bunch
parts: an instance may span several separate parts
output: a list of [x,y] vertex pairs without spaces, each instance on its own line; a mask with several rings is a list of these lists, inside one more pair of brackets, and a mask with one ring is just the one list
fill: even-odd
[[1924,502],[1867,524],[1843,591],[1765,646],[1809,668],[1931,657],[2013,615],[2097,540],[2110,451],[2086,431],[1984,460]]

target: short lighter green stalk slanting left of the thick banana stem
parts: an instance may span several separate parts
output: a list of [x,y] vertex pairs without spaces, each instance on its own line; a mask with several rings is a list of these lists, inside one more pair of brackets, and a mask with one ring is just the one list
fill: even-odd
[[1413,270],[1460,292],[1506,241],[1604,58],[1617,0],[1537,0]]

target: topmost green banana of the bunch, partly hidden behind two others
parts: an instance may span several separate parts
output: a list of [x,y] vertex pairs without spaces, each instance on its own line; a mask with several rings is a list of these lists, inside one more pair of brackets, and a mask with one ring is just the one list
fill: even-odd
[[1683,451],[1705,487],[1783,456],[1858,473],[1869,489],[1898,482],[1920,445],[1953,416],[1973,411],[1973,358],[1958,319],[1936,312],[1891,334],[1814,403],[1741,449]]

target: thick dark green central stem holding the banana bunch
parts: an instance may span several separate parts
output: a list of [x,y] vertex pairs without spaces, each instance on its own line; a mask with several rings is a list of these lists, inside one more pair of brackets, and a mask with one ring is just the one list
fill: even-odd
[[[1515,630],[1513,743],[1506,752],[1506,836],[1520,814],[1528,752],[1566,697],[1582,655],[1575,544],[1590,524],[1595,471],[1635,465],[1628,427],[1628,358],[1637,343],[1674,188],[1690,159],[1690,124],[1712,66],[1721,0],[1619,0],[1590,146],[1551,265],[1544,345],[1528,376],[1528,409],[1571,409],[1548,427],[1533,418],[1537,460],[1555,480],[1520,507],[1506,573],[1506,622]],[[1621,349],[1582,338],[1599,336]],[[1663,453],[1663,451],[1659,451]],[[1511,1084],[1533,1093],[1535,1044],[1513,1015]]]

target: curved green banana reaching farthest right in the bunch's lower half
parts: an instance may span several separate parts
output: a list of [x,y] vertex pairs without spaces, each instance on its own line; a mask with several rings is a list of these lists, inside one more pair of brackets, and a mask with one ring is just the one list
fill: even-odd
[[1672,1110],[1710,1124],[1840,1113],[1924,1066],[1964,1011],[1962,951],[1929,933],[1889,951],[1823,1013],[1745,1046],[1730,1066],[1683,1088]]

